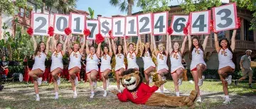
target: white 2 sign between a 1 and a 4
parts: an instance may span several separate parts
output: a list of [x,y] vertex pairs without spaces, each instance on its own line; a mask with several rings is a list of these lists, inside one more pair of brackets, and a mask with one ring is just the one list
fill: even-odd
[[152,33],[151,13],[141,14],[137,16],[139,35]]

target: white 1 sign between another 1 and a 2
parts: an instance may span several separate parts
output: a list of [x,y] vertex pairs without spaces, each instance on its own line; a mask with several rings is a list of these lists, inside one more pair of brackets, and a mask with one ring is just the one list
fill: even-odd
[[125,35],[127,36],[137,36],[137,17],[127,16],[125,17]]

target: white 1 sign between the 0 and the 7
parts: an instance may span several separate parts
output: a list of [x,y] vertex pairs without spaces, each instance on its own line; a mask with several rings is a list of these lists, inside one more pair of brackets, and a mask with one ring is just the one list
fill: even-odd
[[85,29],[85,15],[71,13],[71,31],[73,34],[83,35]]

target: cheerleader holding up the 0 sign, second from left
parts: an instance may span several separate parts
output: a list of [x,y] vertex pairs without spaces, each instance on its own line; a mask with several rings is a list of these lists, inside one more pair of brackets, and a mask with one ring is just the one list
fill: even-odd
[[[64,46],[62,43],[55,43],[57,40],[52,38],[52,46],[51,46],[51,60],[52,64],[50,66],[50,74],[53,76],[53,84],[55,90],[55,99],[58,99],[58,86],[60,85],[60,73],[63,71],[63,54],[65,54],[66,45],[68,42],[68,38],[65,39]],[[56,48],[55,48],[56,47]]]

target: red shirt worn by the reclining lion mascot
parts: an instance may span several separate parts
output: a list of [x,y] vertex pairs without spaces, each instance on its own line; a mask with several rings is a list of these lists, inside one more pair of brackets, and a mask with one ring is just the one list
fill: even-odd
[[158,90],[159,87],[146,85],[144,83],[139,85],[137,91],[129,92],[127,88],[124,88],[122,93],[117,93],[119,101],[127,102],[132,101],[136,104],[145,104],[149,97]]

